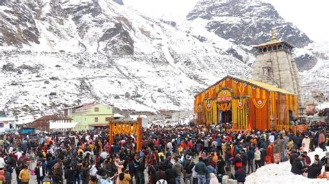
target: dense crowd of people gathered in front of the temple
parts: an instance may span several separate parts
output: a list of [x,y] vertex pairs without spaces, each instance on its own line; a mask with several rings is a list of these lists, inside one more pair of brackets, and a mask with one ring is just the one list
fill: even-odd
[[307,156],[316,147],[326,151],[324,131],[151,126],[143,129],[140,151],[135,151],[133,135],[116,135],[113,145],[108,138],[108,129],[5,134],[0,138],[0,181],[31,183],[34,175],[37,183],[208,184],[225,176],[244,183],[256,169],[287,160],[294,174],[329,178],[329,153],[322,161],[315,156],[312,164]]

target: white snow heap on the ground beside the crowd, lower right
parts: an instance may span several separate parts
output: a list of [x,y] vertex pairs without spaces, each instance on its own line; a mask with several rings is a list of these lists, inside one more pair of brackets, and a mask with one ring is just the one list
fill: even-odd
[[[327,147],[327,150],[329,147]],[[312,163],[314,161],[314,155],[318,154],[319,158],[326,156],[326,152],[322,149],[317,148],[315,151],[308,154],[310,156]],[[292,166],[289,160],[279,164],[269,164],[264,167],[257,169],[257,172],[250,174],[246,177],[246,184],[251,183],[329,183],[326,179],[310,179],[302,175],[294,175],[290,172]],[[321,171],[323,172],[324,167]]]

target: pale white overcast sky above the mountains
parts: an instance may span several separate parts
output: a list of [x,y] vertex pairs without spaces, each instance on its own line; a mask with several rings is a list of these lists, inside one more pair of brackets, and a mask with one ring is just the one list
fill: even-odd
[[[198,0],[124,0],[126,6],[146,15],[185,16]],[[310,39],[329,42],[329,0],[263,0],[271,3],[279,14],[292,22]]]

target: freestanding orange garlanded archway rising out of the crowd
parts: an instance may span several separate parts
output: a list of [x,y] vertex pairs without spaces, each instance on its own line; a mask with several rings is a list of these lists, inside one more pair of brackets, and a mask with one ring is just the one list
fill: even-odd
[[[109,144],[113,145],[114,136],[117,134],[133,134],[136,138],[136,151],[142,149],[142,118],[138,117],[137,121],[114,120],[109,121]],[[109,147],[109,149],[110,149]],[[110,150],[109,150],[110,152]]]

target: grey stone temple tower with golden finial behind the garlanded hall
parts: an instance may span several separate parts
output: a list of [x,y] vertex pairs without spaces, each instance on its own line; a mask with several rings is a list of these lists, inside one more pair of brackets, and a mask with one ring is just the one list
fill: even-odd
[[305,105],[301,95],[301,85],[296,62],[292,57],[291,44],[278,40],[276,31],[272,30],[271,41],[254,46],[256,62],[251,75],[253,80],[286,89],[298,95],[299,114],[303,115]]

